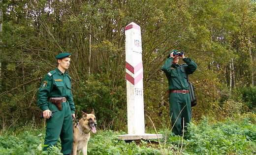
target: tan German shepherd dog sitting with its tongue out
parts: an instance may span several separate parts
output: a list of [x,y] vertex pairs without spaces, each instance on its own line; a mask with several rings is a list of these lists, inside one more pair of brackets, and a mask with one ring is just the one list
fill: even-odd
[[86,114],[82,111],[82,118],[73,126],[73,149],[72,155],[80,155],[82,150],[83,155],[87,155],[87,144],[90,139],[90,132],[96,133],[96,117],[94,110],[91,114]]

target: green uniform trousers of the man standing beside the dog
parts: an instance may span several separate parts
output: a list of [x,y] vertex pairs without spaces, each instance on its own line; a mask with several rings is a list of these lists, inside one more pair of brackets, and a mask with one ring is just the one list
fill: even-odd
[[61,111],[51,102],[48,103],[48,107],[51,111],[56,112],[53,113],[52,118],[46,121],[44,144],[47,146],[44,147],[43,150],[47,150],[49,146],[55,145],[60,137],[62,153],[64,155],[71,154],[73,145],[73,122],[69,104],[67,101],[62,103]]

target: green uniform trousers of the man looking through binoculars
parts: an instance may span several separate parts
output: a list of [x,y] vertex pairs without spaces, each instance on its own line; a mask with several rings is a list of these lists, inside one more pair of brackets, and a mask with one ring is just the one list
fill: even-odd
[[182,135],[183,121],[184,128],[187,128],[187,124],[190,123],[191,114],[191,99],[190,94],[186,93],[170,93],[170,117],[173,125],[172,132],[175,135]]

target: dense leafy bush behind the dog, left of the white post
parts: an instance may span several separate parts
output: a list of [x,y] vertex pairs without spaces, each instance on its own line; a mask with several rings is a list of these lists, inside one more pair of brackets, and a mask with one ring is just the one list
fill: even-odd
[[109,87],[111,81],[108,76],[107,74],[102,74],[100,77],[91,75],[88,80],[80,83],[80,88],[74,96],[76,111],[80,115],[81,111],[90,113],[95,109],[97,122],[101,128],[124,130],[126,127],[118,124],[126,124],[125,90],[121,86]]

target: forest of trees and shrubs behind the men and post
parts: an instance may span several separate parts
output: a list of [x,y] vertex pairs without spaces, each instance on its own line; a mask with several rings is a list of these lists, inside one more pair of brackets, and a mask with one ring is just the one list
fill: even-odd
[[[99,128],[127,130],[125,33],[141,27],[145,115],[169,123],[167,80],[172,49],[197,63],[190,76],[193,121],[256,111],[254,0],[0,0],[0,131],[42,124],[41,78],[55,56],[72,53],[76,113],[95,109]],[[146,129],[152,123],[145,117]]]

